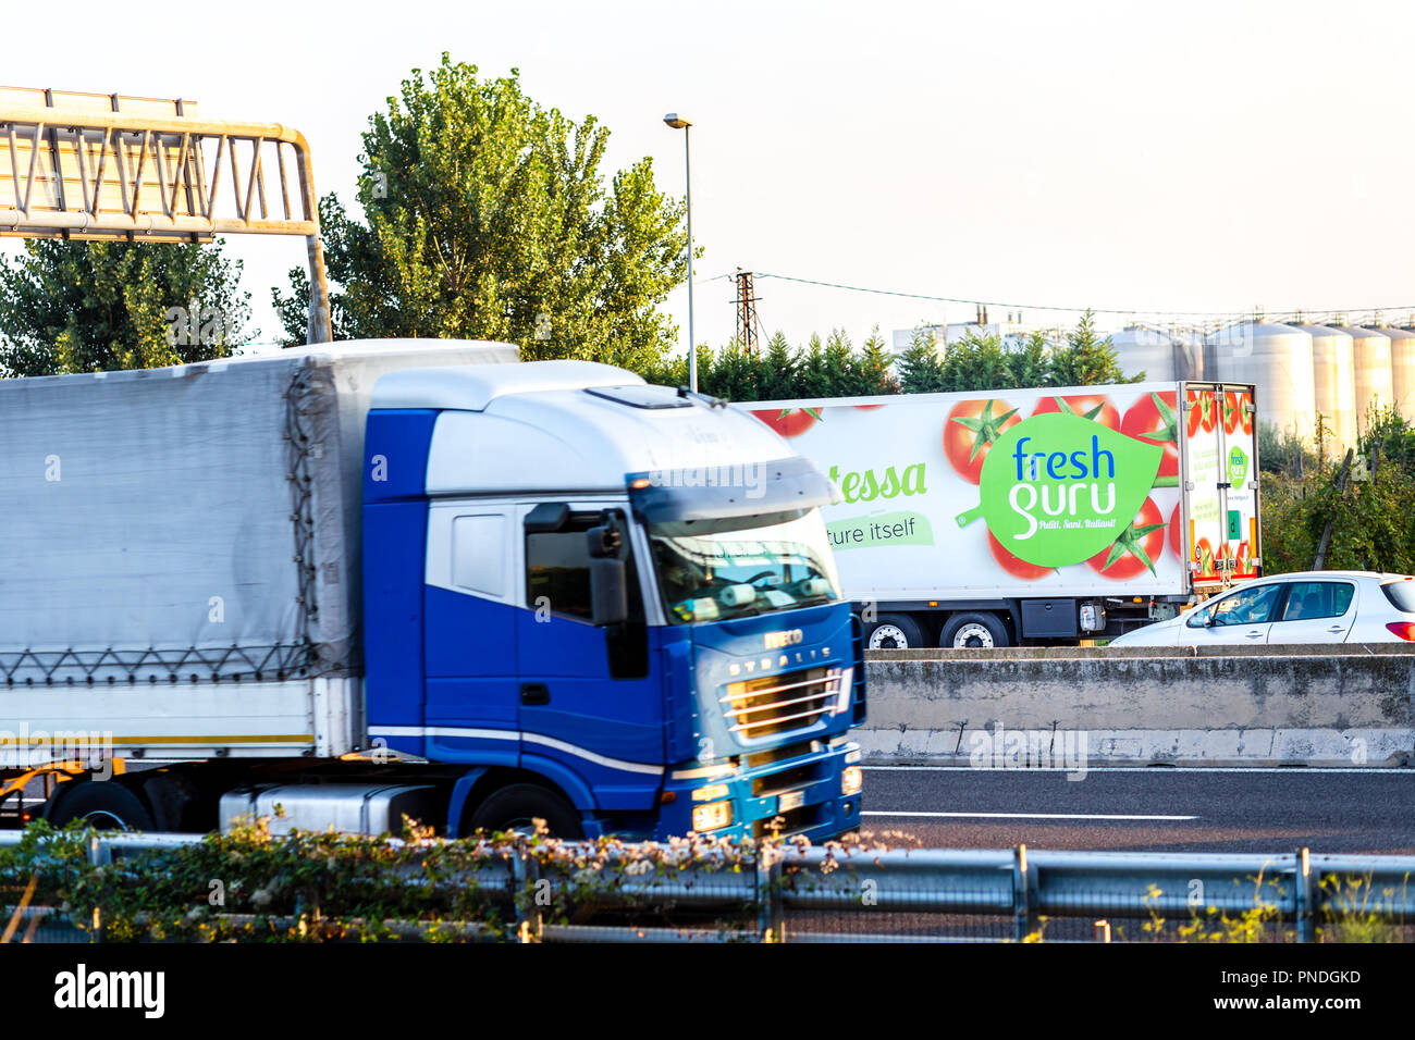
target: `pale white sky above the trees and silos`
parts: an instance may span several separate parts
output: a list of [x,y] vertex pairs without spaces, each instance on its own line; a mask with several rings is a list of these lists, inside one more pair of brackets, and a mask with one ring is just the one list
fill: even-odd
[[[747,270],[1023,304],[1415,310],[1415,6],[1399,3],[64,4],[0,81],[195,98],[299,127],[352,201],[359,132],[441,51],[521,69],[683,190],[693,120],[696,334]],[[258,323],[299,239],[232,238]],[[971,306],[760,279],[768,334],[968,320]],[[686,342],[686,290],[668,300]],[[1007,307],[993,307],[993,320]],[[1119,327],[1118,317],[1105,324]]]

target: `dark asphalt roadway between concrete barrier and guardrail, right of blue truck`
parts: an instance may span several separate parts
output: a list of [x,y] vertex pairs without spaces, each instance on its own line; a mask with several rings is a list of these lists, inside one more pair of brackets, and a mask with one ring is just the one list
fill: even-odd
[[[1077,775],[1077,774],[1070,774]],[[1415,855],[1415,770],[866,767],[891,846]]]

